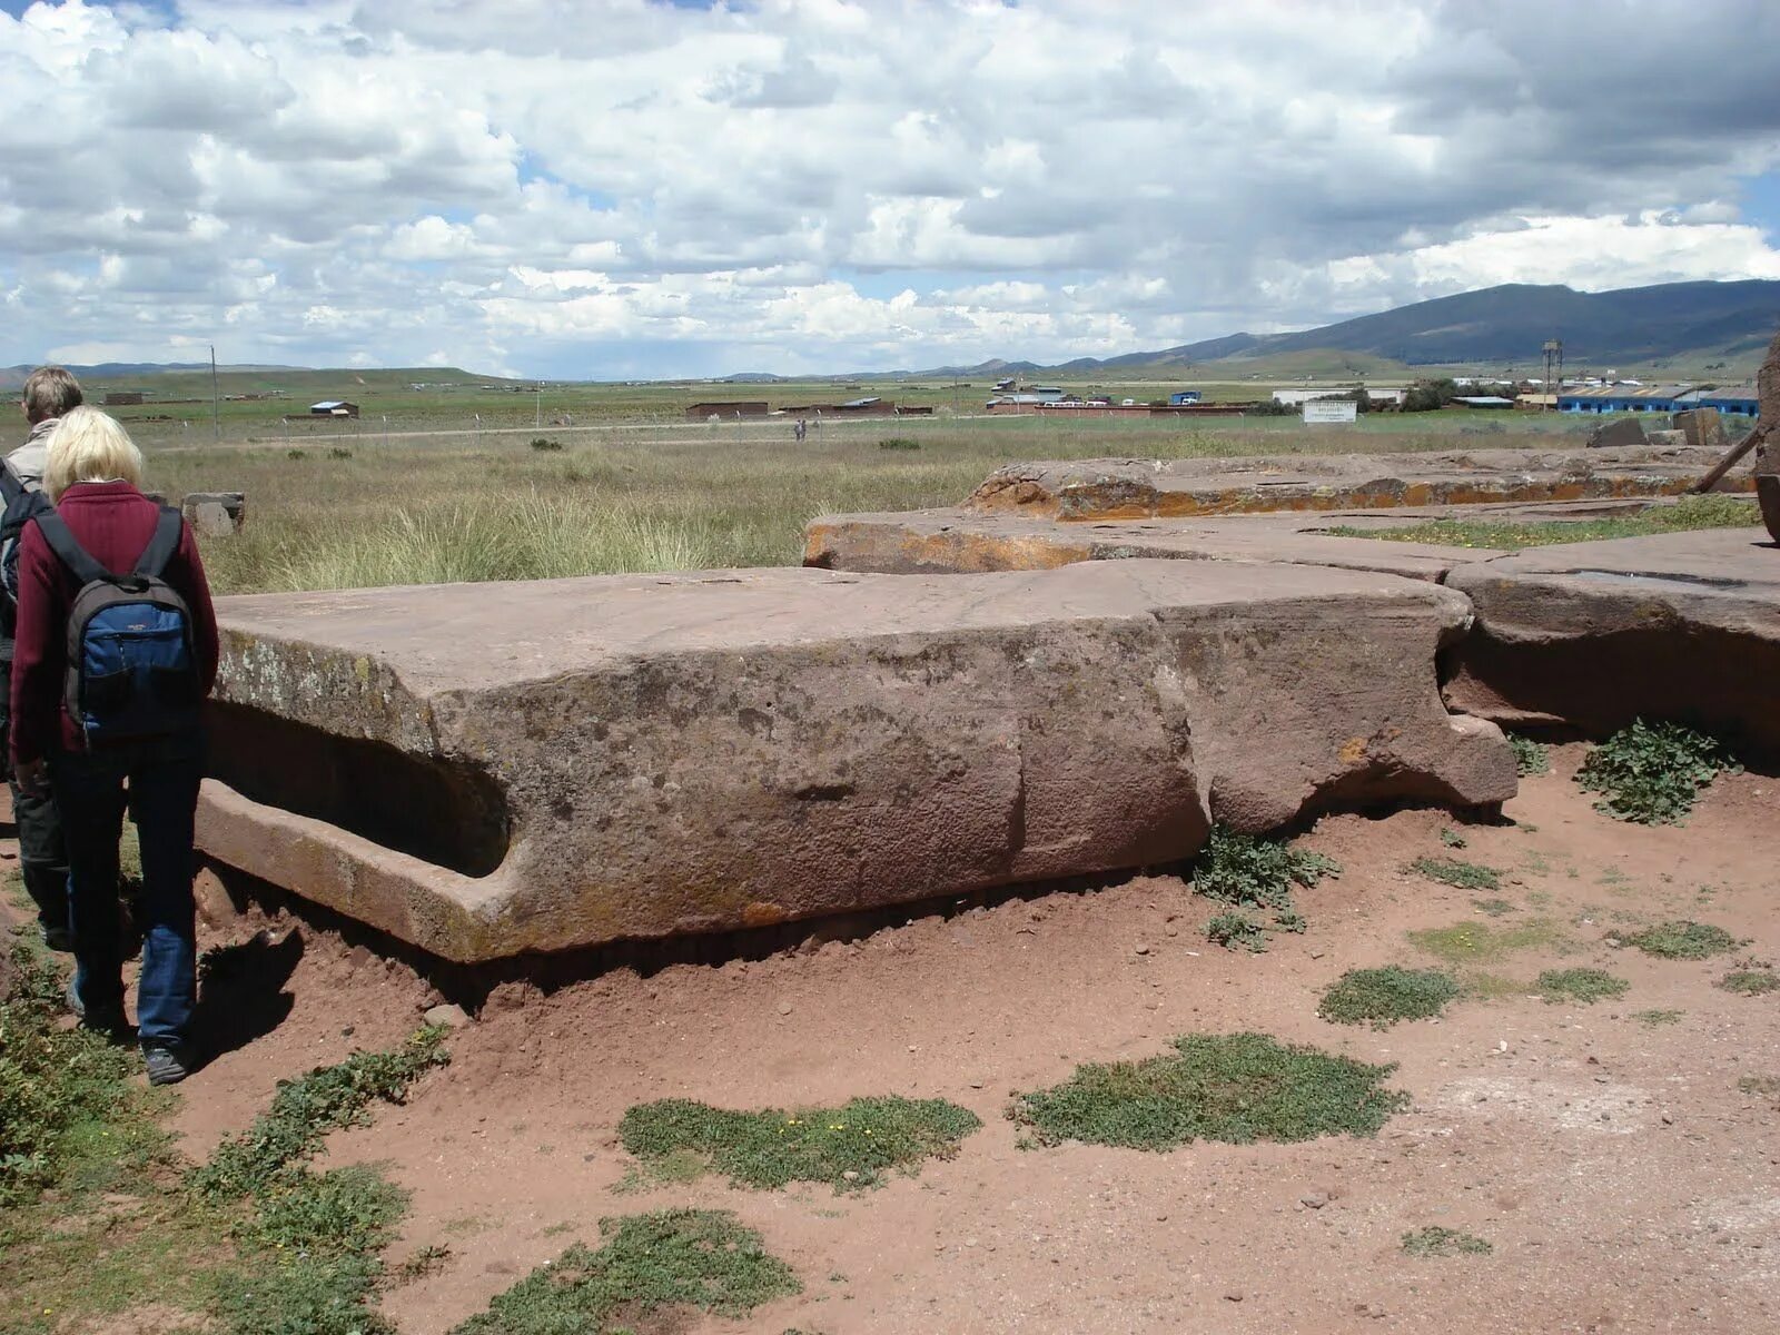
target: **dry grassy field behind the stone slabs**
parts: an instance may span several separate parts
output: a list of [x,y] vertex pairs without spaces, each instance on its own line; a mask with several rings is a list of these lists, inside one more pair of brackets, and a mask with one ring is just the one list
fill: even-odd
[[[246,530],[205,543],[205,562],[219,593],[255,593],[797,564],[817,514],[956,504],[1022,459],[1433,450],[1474,440],[1467,424],[904,418],[837,424],[803,443],[773,422],[541,433],[561,450],[532,449],[534,431],[142,445],[150,484],[169,497],[247,495]],[[1513,425],[1517,443],[1561,440],[1534,434],[1538,418]]]

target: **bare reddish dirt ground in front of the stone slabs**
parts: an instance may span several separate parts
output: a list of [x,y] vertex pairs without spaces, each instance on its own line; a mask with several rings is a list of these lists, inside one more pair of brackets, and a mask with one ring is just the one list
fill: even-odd
[[[1581,755],[1554,748],[1556,773],[1524,781],[1508,822],[1465,826],[1463,853],[1442,846],[1452,821],[1440,812],[1324,819],[1303,844],[1346,872],[1301,895],[1308,933],[1258,956],[1209,945],[1210,910],[1182,881],[1134,878],[764,961],[497,991],[452,1038],[450,1068],[331,1141],[333,1162],[386,1162],[413,1191],[393,1260],[449,1248],[384,1310],[404,1331],[445,1331],[570,1242],[596,1242],[602,1216],[705,1205],[758,1228],[805,1292],[749,1321],[675,1330],[1771,1330],[1776,1098],[1737,1080],[1780,1075],[1780,995],[1712,981],[1741,956],[1780,956],[1780,780],[1721,778],[1686,826],[1646,829],[1591,810],[1570,781]],[[1420,854],[1502,869],[1515,911],[1485,917],[1477,892],[1404,874]],[[1664,961],[1606,942],[1609,927],[1670,917],[1753,943]],[[1552,924],[1549,945],[1476,968],[1529,983],[1600,967],[1630,991],[1579,1006],[1509,988],[1388,1031],[1317,1018],[1347,968],[1436,963],[1408,931],[1533,918]],[[393,1043],[431,1000],[404,968],[294,927],[274,922],[224,984],[255,1002],[228,1007],[233,1050],[185,1086],[176,1127],[194,1157],[263,1109],[278,1079]],[[1241,1029],[1399,1063],[1387,1084],[1413,1105],[1376,1139],[1016,1148],[1011,1091],[1080,1061],[1159,1054],[1182,1032]],[[614,1129],[635,1102],[872,1093],[945,1096],[984,1129],[954,1161],[858,1194],[712,1177],[614,1191],[630,1168]],[[1403,1234],[1426,1225],[1493,1251],[1404,1255]]]

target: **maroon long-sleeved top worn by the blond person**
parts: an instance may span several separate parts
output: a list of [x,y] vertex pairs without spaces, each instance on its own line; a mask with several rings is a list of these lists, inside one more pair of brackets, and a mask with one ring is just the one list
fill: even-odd
[[[57,506],[75,539],[114,573],[135,566],[155,534],[160,507],[128,482],[77,482]],[[217,676],[217,619],[210,584],[190,525],[162,578],[192,612],[192,648],[205,694]],[[50,751],[85,749],[62,694],[68,671],[68,611],[80,586],[27,525],[18,548],[18,635],[12,646],[12,764],[41,760]]]

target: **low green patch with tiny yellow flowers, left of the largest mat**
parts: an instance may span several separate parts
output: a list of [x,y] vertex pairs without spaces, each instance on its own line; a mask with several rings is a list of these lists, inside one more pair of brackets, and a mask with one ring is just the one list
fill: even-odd
[[625,1112],[618,1139],[644,1168],[682,1180],[708,1169],[765,1191],[790,1182],[860,1191],[881,1185],[892,1171],[913,1177],[927,1159],[951,1159],[981,1127],[975,1112],[943,1098],[851,1098],[792,1112],[662,1098]]

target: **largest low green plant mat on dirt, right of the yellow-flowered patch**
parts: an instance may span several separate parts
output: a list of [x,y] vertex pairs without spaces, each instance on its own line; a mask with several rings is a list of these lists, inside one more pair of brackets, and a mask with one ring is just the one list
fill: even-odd
[[1410,1102],[1383,1088],[1394,1070],[1267,1034],[1187,1034],[1168,1056],[1077,1066],[1064,1084],[1015,1096],[1007,1116],[1038,1145],[1130,1150],[1374,1136]]

